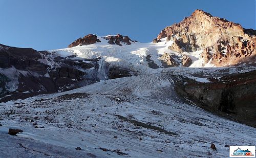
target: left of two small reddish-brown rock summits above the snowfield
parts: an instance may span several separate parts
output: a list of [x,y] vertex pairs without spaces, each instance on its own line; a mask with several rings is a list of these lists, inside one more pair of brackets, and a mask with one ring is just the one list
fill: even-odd
[[94,44],[96,42],[100,42],[100,40],[97,38],[97,36],[93,35],[93,34],[88,34],[88,35],[84,36],[83,38],[78,38],[77,40],[75,40],[74,42],[69,44],[68,47],[69,48],[75,47],[75,46],[78,46],[79,44],[81,44],[81,45]]

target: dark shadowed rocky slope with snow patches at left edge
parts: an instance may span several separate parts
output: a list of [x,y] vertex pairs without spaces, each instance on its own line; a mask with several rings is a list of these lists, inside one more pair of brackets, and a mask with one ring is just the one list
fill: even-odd
[[87,76],[82,70],[94,67],[96,74],[99,58],[78,60],[75,57],[51,58],[47,51],[0,44],[0,68],[3,68],[0,102],[68,91],[98,81],[96,76]]

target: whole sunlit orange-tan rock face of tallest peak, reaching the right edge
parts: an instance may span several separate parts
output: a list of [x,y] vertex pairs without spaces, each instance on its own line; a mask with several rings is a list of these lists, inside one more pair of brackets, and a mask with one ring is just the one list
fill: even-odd
[[[211,63],[216,66],[255,62],[256,30],[244,29],[240,24],[214,17],[202,10],[196,10],[179,24],[166,27],[157,39],[164,37],[174,40],[169,49],[176,52],[211,49],[214,53]],[[206,63],[211,59],[211,54],[204,50],[201,57]]]

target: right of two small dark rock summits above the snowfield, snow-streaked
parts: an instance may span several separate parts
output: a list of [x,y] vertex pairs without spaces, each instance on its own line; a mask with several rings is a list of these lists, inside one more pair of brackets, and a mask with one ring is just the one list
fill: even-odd
[[122,36],[120,34],[117,34],[116,36],[107,36],[104,37],[104,39],[109,40],[108,43],[110,44],[117,44],[118,46],[122,46],[122,43],[126,43],[127,45],[131,45],[131,42],[136,42],[134,40],[131,40],[128,36]]

